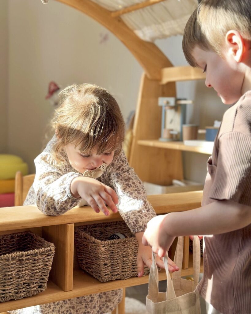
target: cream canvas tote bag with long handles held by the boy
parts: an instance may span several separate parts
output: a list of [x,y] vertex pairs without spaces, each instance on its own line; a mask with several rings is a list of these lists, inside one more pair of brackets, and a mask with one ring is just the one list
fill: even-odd
[[200,240],[194,236],[193,240],[193,268],[194,281],[181,278],[183,258],[183,237],[179,237],[174,263],[179,266],[179,271],[173,273],[171,279],[168,272],[168,255],[164,257],[167,274],[167,291],[158,291],[158,268],[156,255],[152,253],[152,267],[149,275],[149,292],[146,307],[148,314],[201,314],[200,299],[196,286],[200,274]]

